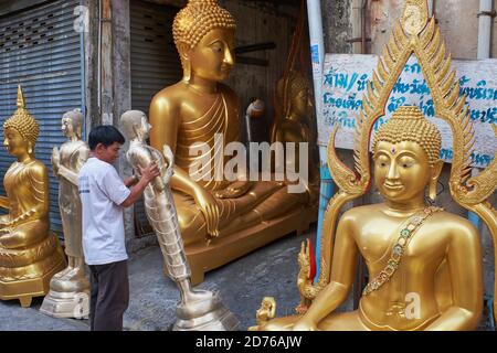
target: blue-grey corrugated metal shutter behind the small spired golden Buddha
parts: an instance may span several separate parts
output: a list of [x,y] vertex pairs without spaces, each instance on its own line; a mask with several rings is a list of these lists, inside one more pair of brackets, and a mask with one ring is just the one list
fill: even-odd
[[[40,122],[35,156],[50,169],[50,218],[52,229],[62,235],[59,184],[50,157],[64,141],[61,117],[83,109],[82,34],[74,31],[74,8],[80,0],[51,1],[0,18],[0,139],[3,121],[17,109],[18,84],[22,85],[27,108]],[[0,147],[0,179],[14,159]],[[4,194],[3,182],[0,193]]]

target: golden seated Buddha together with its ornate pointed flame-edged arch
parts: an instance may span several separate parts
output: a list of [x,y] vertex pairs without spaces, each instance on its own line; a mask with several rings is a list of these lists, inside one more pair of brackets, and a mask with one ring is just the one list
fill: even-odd
[[[451,194],[487,224],[496,244],[497,214],[486,200],[497,188],[497,162],[470,178],[473,125],[440,29],[434,18],[429,19],[424,0],[406,0],[403,13],[363,97],[357,120],[356,170],[337,157],[337,128],[328,145],[328,165],[339,192],[325,213],[319,279],[314,284],[309,278],[309,249],[303,244],[298,314],[258,320],[255,330],[474,330],[478,325],[483,311],[479,235],[467,220],[424,202],[426,190],[432,202],[436,196],[443,162],[438,159],[441,133],[417,107],[399,108],[374,136],[374,182],[384,203],[351,208],[336,225],[343,204],[370,188],[371,131],[414,54],[436,116],[453,132]],[[351,289],[358,255],[370,276],[359,308],[334,312]]]

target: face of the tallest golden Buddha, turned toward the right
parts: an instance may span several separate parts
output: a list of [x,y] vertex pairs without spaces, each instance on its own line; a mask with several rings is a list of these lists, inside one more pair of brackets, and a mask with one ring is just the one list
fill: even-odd
[[234,30],[214,29],[189,51],[192,74],[205,81],[221,82],[230,76],[234,65],[232,50]]

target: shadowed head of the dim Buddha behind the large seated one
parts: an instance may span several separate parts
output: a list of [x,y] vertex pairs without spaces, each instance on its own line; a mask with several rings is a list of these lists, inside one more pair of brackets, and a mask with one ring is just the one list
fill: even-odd
[[276,94],[283,101],[283,114],[286,118],[306,118],[310,113],[310,86],[308,81],[296,71],[282,78],[276,87]]

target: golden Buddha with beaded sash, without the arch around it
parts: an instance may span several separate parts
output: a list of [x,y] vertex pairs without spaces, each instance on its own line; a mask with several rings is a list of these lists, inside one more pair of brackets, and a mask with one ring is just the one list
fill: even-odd
[[[479,235],[467,220],[427,205],[443,161],[437,127],[417,107],[401,107],[372,145],[383,203],[339,220],[329,284],[304,315],[262,330],[473,330],[483,310]],[[359,308],[337,313],[352,287],[358,256],[369,272]]]

